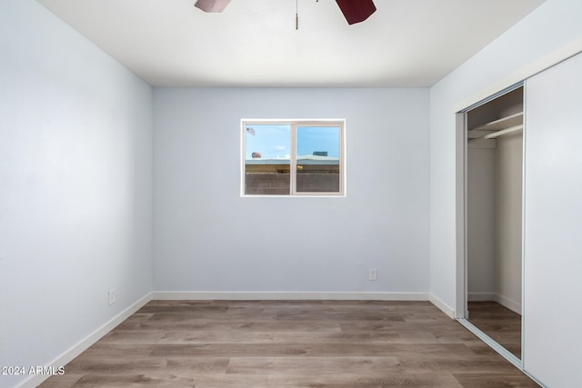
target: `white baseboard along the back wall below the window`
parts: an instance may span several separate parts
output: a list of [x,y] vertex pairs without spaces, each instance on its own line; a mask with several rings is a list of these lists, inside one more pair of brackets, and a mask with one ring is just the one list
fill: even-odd
[[367,292],[214,292],[156,291],[154,300],[354,300],[354,301],[427,301],[428,293],[367,293]]

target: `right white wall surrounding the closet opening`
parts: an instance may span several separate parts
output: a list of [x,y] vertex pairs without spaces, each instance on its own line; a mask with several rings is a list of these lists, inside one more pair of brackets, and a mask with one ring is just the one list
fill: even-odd
[[454,113],[459,103],[579,40],[581,15],[581,2],[547,0],[430,89],[430,289],[450,311],[457,296]]

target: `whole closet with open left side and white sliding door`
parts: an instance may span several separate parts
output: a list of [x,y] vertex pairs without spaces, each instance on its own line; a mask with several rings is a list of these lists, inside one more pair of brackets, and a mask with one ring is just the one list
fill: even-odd
[[458,322],[551,387],[582,381],[582,53],[572,55],[456,115]]

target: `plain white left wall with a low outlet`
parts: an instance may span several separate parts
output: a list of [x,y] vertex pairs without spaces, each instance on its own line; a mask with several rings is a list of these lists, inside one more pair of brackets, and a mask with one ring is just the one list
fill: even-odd
[[153,97],[32,0],[0,2],[0,55],[0,365],[28,367],[151,291]]

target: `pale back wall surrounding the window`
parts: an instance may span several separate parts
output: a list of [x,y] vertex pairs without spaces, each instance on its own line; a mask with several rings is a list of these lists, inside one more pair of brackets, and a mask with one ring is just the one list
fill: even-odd
[[[156,291],[428,291],[427,89],[155,90]],[[346,198],[241,198],[241,118],[346,118]],[[367,280],[377,268],[378,280]]]

